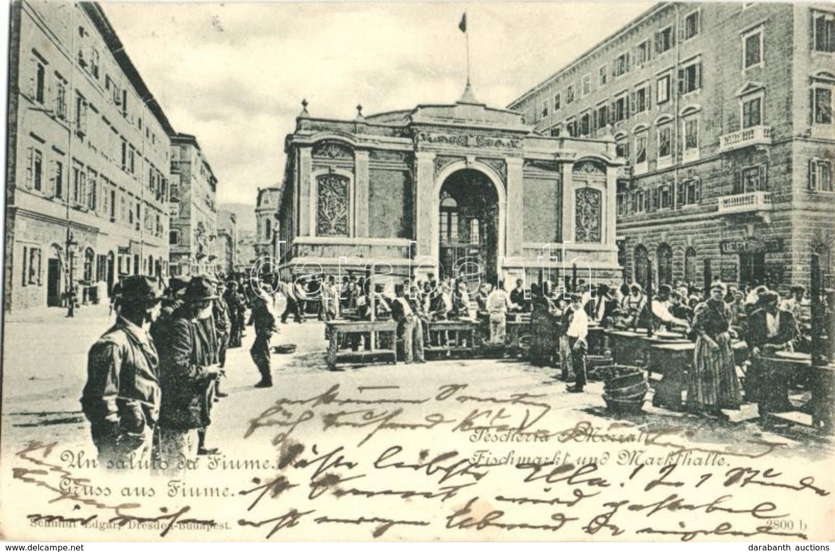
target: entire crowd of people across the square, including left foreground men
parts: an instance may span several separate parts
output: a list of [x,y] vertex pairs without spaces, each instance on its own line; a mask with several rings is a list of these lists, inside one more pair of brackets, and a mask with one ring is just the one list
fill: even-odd
[[[81,399],[99,458],[119,465],[150,455],[160,465],[181,468],[199,454],[215,454],[206,445],[206,434],[212,405],[225,396],[221,382],[227,349],[241,346],[251,324],[251,359],[261,374],[256,387],[271,387],[271,337],[278,331],[277,320],[287,324],[291,316],[300,324],[306,314],[321,320],[394,319],[407,364],[423,363],[425,349],[443,345],[429,339],[428,324],[434,321],[479,322],[485,345],[504,348],[507,320],[529,317],[531,361],[558,367],[571,393],[582,392],[586,384],[591,324],[676,331],[696,342],[688,406],[716,416],[739,409],[743,391],[748,402],[764,400],[768,391],[760,359],[809,344],[802,286],[793,286],[783,299],[763,285],[736,288],[719,281],[706,294],[687,284],[660,285],[650,294],[640,284],[615,289],[600,284],[569,294],[549,282],[525,288],[521,279],[510,292],[503,282],[469,291],[463,282],[430,276],[405,279],[392,291],[356,276],[341,283],[334,276],[268,276],[255,284],[195,276],[172,278],[165,285],[145,276],[125,277],[114,288],[115,322],[89,351]],[[286,299],[281,316],[273,310],[277,295]],[[826,302],[831,331],[835,292]],[[745,389],[731,348],[739,339],[746,342],[750,361]]]

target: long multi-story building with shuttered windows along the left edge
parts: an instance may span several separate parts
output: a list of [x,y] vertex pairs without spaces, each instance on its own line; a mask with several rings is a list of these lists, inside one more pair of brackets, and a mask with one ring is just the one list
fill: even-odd
[[3,307],[167,271],[162,108],[97,3],[12,4]]

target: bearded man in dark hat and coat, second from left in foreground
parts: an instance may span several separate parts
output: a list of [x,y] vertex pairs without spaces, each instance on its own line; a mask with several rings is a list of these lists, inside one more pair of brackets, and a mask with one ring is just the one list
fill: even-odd
[[167,337],[160,347],[159,364],[159,453],[171,468],[183,459],[212,452],[200,441],[211,423],[215,380],[220,375],[213,319],[217,297],[210,279],[195,276],[183,294],[185,304],[164,328]]

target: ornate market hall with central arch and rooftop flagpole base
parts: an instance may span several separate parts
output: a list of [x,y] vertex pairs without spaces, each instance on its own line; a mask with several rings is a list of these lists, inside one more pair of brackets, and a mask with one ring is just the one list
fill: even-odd
[[[615,143],[534,132],[468,87],[448,105],[313,118],[286,138],[281,272],[619,282]],[[376,264],[377,268],[372,268]],[[387,268],[390,267],[390,268]]]

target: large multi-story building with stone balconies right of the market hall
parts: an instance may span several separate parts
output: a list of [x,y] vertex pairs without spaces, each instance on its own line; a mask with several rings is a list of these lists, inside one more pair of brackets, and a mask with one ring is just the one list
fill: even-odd
[[808,284],[835,240],[835,8],[660,3],[510,104],[614,138],[625,279]]

